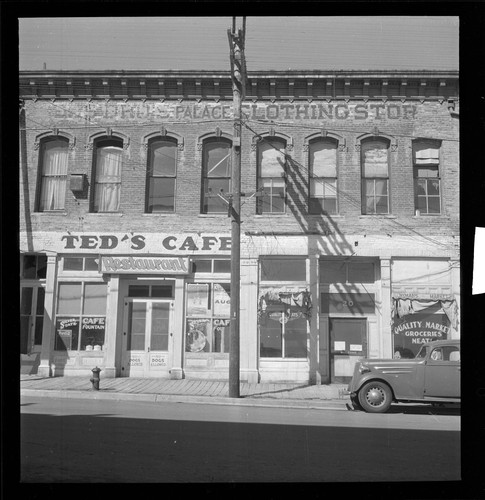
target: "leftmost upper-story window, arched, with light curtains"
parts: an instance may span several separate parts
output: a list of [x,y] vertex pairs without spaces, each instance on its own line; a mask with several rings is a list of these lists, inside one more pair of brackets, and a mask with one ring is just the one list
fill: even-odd
[[41,142],[39,212],[65,208],[69,141],[49,137]]

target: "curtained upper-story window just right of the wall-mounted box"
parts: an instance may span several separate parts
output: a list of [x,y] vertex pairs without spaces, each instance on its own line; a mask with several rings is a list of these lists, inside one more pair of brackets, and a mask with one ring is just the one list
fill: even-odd
[[123,141],[97,141],[94,151],[93,212],[118,212],[120,209]]

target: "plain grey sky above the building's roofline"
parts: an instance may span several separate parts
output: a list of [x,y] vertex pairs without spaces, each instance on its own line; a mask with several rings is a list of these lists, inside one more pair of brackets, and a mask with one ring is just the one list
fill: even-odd
[[[242,26],[237,18],[237,27]],[[20,70],[229,70],[231,17],[20,18]],[[258,70],[457,70],[449,16],[248,16]]]

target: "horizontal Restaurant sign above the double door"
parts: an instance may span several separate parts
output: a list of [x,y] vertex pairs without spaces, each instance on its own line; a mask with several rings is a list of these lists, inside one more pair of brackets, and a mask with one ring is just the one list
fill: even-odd
[[101,256],[101,273],[188,274],[188,257]]

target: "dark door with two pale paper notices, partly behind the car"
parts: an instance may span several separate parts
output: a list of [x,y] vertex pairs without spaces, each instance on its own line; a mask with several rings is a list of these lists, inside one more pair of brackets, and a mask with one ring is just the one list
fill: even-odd
[[366,356],[367,319],[330,318],[330,382],[350,382],[355,362]]

